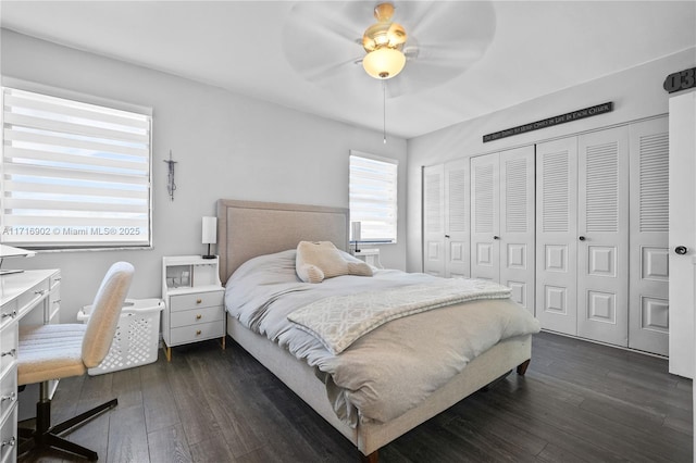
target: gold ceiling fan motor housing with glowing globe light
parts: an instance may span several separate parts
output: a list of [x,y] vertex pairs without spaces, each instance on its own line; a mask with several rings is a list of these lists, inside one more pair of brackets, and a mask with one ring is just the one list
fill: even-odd
[[362,67],[374,78],[387,79],[396,76],[406,65],[406,55],[401,51],[407,39],[403,27],[391,22],[394,5],[381,3],[374,9],[376,24],[368,27],[362,36],[362,47],[368,54]]

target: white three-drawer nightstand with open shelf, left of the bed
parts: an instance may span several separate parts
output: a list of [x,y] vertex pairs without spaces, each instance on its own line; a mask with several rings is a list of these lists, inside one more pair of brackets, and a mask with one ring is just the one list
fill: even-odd
[[225,348],[225,288],[219,275],[217,258],[162,258],[162,337],[167,361],[176,346],[221,338]]

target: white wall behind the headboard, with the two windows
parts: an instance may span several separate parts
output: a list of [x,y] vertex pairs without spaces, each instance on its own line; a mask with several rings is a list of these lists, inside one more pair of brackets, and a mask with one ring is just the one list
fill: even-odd
[[[72,322],[112,262],[136,267],[130,297],[161,295],[163,255],[199,254],[201,217],[219,198],[348,208],[349,150],[399,161],[399,235],[382,263],[406,267],[406,140],[297,112],[220,88],[2,30],[3,76],[153,109],[152,250],[51,252],[13,267],[63,272],[62,321]],[[174,201],[166,164],[176,164]],[[7,266],[7,263],[5,263]]]

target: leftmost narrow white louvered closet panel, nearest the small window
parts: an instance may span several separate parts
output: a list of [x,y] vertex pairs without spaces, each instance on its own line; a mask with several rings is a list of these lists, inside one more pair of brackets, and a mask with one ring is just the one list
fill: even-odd
[[445,168],[423,167],[423,273],[445,276]]

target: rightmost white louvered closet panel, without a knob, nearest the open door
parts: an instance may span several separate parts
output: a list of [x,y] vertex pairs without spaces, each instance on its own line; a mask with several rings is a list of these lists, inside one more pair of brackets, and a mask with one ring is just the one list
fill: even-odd
[[629,347],[669,354],[668,118],[630,127]]

